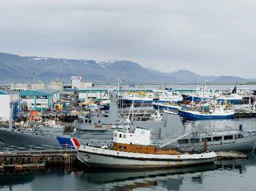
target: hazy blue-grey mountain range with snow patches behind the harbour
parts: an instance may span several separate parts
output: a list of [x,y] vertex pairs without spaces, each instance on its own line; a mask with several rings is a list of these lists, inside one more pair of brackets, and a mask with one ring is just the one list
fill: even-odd
[[[60,67],[61,65],[61,67]],[[113,83],[119,78],[126,83],[158,84],[195,84],[207,80],[211,84],[250,83],[256,79],[213,75],[204,76],[188,70],[178,70],[170,73],[155,69],[143,68],[136,62],[118,60],[75,60],[55,59],[37,56],[19,56],[0,53],[0,83],[4,82],[32,82],[36,79],[49,82],[51,78],[60,78],[70,82],[73,75],[82,76],[84,81],[94,83]]]

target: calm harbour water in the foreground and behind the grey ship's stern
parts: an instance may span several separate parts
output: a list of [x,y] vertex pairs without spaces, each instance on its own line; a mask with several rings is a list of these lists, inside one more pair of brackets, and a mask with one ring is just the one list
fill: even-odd
[[[256,118],[197,121],[209,130],[256,130]],[[255,140],[256,142],[256,140]],[[256,152],[249,159],[161,170],[47,169],[0,171],[0,190],[256,190]],[[82,170],[83,169],[83,170]]]

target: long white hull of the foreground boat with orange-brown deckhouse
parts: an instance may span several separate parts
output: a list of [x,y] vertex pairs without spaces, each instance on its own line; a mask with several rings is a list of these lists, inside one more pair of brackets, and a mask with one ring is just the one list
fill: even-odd
[[[179,157],[179,158],[178,158]],[[90,167],[142,169],[195,166],[214,163],[215,152],[193,155],[154,155],[81,146],[77,158]]]

